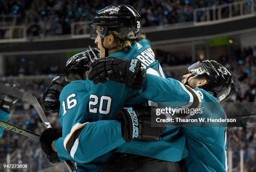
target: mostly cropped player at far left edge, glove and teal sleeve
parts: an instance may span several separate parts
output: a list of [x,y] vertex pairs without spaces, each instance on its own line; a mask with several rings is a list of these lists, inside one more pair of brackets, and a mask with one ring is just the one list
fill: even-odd
[[[5,84],[8,87],[15,88],[14,84]],[[17,98],[0,93],[0,120],[8,121],[10,113],[14,109],[14,104],[17,102]],[[0,127],[0,137],[2,137],[4,127]]]

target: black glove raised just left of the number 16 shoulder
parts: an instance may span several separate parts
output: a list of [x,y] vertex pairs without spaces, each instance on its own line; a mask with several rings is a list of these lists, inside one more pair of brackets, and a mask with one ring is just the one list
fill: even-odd
[[51,81],[51,85],[43,93],[42,106],[46,112],[59,112],[59,95],[65,85],[69,84],[64,75],[59,75]]

